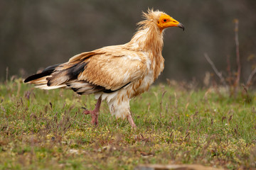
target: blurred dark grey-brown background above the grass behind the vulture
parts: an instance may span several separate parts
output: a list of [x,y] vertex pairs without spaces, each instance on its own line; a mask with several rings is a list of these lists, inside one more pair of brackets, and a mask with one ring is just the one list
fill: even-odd
[[[185,26],[165,31],[164,72],[158,81],[203,82],[213,72],[204,53],[221,72],[235,63],[235,23],[239,20],[241,80],[255,67],[255,0],[1,0],[0,80],[26,77],[38,69],[68,61],[80,52],[128,42],[142,11],[159,9]],[[223,73],[225,74],[225,73]]]

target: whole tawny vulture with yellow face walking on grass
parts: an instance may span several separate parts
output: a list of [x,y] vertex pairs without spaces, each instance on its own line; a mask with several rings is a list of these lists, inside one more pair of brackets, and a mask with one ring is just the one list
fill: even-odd
[[161,11],[148,10],[144,21],[138,23],[137,33],[124,45],[102,47],[82,52],[68,62],[47,67],[39,74],[25,79],[40,89],[72,89],[77,94],[95,94],[97,103],[92,116],[97,125],[100,104],[107,101],[110,113],[116,118],[132,119],[129,101],[149,89],[164,69],[163,32],[165,28],[184,26]]

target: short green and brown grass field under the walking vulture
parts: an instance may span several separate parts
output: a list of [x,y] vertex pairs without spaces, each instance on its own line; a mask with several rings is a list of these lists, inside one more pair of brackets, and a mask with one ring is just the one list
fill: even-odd
[[255,93],[159,85],[131,101],[137,130],[107,103],[90,125],[93,96],[0,84],[0,169],[133,169],[138,164],[256,168]]

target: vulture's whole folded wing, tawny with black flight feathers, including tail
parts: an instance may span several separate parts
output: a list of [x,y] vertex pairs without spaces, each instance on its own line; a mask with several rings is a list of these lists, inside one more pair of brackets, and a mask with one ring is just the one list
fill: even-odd
[[41,89],[71,88],[78,94],[112,93],[146,74],[145,56],[121,47],[105,47],[75,55],[68,62],[46,68],[25,82]]

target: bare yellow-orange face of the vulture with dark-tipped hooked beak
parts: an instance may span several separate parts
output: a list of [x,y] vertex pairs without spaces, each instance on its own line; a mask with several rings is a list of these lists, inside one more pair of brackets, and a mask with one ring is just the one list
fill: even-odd
[[157,21],[157,26],[161,30],[164,30],[164,28],[169,28],[169,27],[180,27],[180,28],[183,28],[184,30],[182,23],[179,23],[174,18],[171,18],[171,16],[166,14],[162,14],[160,16],[159,21]]

